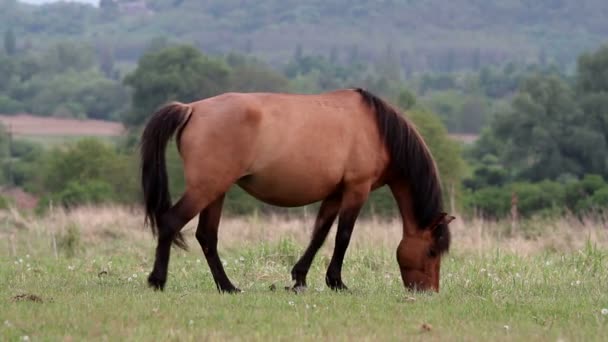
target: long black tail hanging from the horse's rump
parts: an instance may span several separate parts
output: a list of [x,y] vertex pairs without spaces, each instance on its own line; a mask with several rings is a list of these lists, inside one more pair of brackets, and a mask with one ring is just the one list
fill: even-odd
[[[148,121],[141,136],[141,185],[144,192],[146,223],[154,236],[158,234],[161,216],[171,208],[169,179],[165,165],[167,142],[177,132],[179,136],[192,114],[192,107],[182,103],[171,103],[159,109]],[[173,243],[186,249],[181,233],[175,235]]]

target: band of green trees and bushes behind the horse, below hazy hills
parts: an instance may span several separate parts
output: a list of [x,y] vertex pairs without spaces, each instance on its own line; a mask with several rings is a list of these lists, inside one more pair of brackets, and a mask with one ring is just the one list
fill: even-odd
[[[608,85],[602,77],[608,70],[608,47],[581,55],[573,74],[550,65],[506,64],[465,77],[426,74],[407,82],[381,66],[340,64],[303,52],[294,54],[285,69],[277,71],[251,56],[209,55],[190,45],[155,44],[132,71],[114,80],[128,94],[120,105],[123,109],[114,116],[129,127],[131,133],[124,141],[108,145],[84,140],[49,150],[18,141],[8,146],[2,138],[4,182],[42,196],[41,208],[51,202],[68,207],[136,203],[138,134],[163,103],[188,102],[226,91],[317,92],[353,82],[407,111],[438,162],[447,206],[499,218],[509,213],[514,195],[524,216],[584,213],[608,204],[604,182],[608,177]],[[76,57],[69,60],[71,67],[86,66],[79,72],[96,69],[102,73],[99,64],[80,63]],[[54,65],[50,70],[66,67],[52,61],[44,60]],[[42,77],[40,74],[52,72],[35,72],[31,78]],[[27,81],[15,81],[16,85],[23,83]],[[451,109],[435,113],[436,106],[442,105],[475,108],[467,101],[450,100],[457,94],[483,96],[481,101],[486,103],[480,110],[486,124],[472,145],[462,146],[448,138],[446,121],[453,120]],[[444,95],[441,101],[433,100]],[[465,116],[462,122],[471,120]],[[177,195],[183,188],[181,166],[176,149],[169,148],[168,153],[172,193]],[[233,213],[276,210],[238,188],[231,190],[227,205]],[[395,213],[387,191],[372,196],[366,208],[367,213],[378,215]]]

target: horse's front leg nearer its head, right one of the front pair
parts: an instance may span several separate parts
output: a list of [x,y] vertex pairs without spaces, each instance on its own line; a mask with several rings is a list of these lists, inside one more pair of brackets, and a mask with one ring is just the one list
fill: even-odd
[[342,263],[359,212],[369,195],[369,186],[359,186],[344,192],[340,204],[340,219],[336,232],[334,254],[329,262],[325,282],[333,290],[347,290],[342,282]]

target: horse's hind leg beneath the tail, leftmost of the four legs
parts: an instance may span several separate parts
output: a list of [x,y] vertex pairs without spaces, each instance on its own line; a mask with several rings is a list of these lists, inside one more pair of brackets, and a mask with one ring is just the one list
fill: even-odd
[[186,191],[180,200],[162,215],[158,222],[158,245],[154,268],[148,277],[148,284],[151,287],[157,290],[164,289],[173,239],[209,202],[210,200],[198,192]]

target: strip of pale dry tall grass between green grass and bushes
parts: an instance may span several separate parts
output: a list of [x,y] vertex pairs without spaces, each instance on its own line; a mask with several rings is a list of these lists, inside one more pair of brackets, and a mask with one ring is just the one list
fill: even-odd
[[[77,227],[85,244],[97,245],[106,240],[125,240],[133,243],[153,244],[150,232],[143,225],[143,212],[139,208],[116,206],[81,207],[66,211],[55,209],[43,218],[27,216],[10,210],[0,213],[0,236],[8,240],[28,232],[49,239],[64,234],[70,227]],[[197,220],[192,220],[184,232],[191,246]],[[300,217],[258,216],[225,217],[220,228],[220,248],[236,248],[260,242],[293,240],[301,245],[309,241],[314,214],[303,212]],[[482,219],[457,219],[451,225],[452,251],[479,253],[500,249],[520,256],[546,251],[570,252],[583,248],[588,242],[608,247],[608,226],[604,218],[574,217],[559,219],[534,219],[521,222],[513,228],[509,222]],[[359,219],[353,234],[351,248],[396,248],[401,237],[401,221],[398,218]],[[335,229],[332,230],[334,232]],[[327,241],[333,249],[333,235]]]

